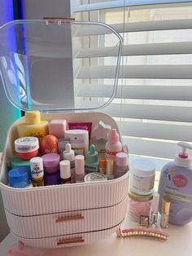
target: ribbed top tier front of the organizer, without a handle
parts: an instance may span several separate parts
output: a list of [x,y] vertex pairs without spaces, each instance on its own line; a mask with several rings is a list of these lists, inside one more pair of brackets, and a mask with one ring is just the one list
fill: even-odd
[[2,186],[5,210],[20,216],[94,209],[119,204],[128,194],[129,174],[98,183],[75,183],[41,188]]

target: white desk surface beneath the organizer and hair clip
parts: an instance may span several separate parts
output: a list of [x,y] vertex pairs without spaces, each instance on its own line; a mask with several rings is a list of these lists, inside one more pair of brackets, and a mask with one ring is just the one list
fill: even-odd
[[[137,227],[125,219],[122,228]],[[0,243],[0,256],[191,256],[192,255],[192,223],[185,226],[169,225],[168,241],[157,241],[147,237],[117,238],[116,233],[107,239],[92,245],[81,245],[63,249],[37,249],[25,246],[14,253],[17,243],[9,234]],[[16,246],[17,248],[17,246]],[[9,253],[8,253],[9,251]]]

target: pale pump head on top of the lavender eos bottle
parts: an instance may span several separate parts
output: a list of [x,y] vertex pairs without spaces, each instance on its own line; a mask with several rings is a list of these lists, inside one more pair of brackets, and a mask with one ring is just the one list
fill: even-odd
[[186,148],[192,149],[192,145],[186,142],[177,143],[182,148],[182,152],[179,152],[175,156],[175,164],[181,167],[190,167],[192,158],[186,152]]

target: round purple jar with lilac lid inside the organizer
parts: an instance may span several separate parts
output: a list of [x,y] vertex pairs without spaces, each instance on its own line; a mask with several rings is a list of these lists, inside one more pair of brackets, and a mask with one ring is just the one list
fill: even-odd
[[46,174],[59,172],[60,156],[57,153],[49,153],[42,156],[43,169]]

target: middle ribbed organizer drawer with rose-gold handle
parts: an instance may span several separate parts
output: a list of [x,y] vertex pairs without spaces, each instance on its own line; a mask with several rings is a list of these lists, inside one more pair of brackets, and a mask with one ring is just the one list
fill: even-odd
[[11,232],[15,235],[25,238],[41,238],[113,227],[122,221],[126,210],[127,197],[118,205],[93,210],[77,210],[31,217],[16,216],[6,210],[6,215]]

